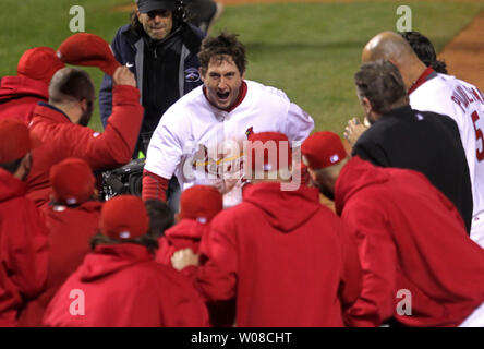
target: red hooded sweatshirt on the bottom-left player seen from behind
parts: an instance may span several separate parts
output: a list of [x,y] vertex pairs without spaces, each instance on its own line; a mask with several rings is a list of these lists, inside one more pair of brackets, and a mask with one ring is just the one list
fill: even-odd
[[121,243],[98,245],[85,257],[56,293],[44,323],[82,327],[206,326],[208,314],[189,278],[156,263],[145,246]]

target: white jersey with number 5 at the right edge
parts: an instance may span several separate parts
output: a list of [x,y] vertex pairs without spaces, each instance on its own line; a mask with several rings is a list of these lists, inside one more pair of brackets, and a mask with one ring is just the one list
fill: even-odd
[[484,246],[484,225],[479,224],[484,219],[480,218],[484,213],[484,95],[455,76],[436,73],[429,77],[410,94],[410,105],[413,109],[449,116],[457,122],[472,184],[471,238]]

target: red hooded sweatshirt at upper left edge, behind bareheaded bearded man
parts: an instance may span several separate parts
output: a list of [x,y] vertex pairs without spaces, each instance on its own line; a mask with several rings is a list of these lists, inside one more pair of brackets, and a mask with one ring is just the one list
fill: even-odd
[[28,124],[39,101],[49,100],[49,86],[26,76],[4,76],[0,81],[0,119],[15,118]]

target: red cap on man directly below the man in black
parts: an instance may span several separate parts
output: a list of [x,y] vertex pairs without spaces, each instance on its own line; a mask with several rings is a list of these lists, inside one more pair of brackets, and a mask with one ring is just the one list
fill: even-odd
[[311,169],[322,169],[340,163],[348,154],[336,133],[315,132],[301,146],[304,165]]

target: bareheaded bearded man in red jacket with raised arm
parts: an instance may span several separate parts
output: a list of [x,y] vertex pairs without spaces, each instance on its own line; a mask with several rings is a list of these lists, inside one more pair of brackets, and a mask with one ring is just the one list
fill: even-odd
[[68,158],[87,161],[93,171],[125,165],[131,159],[143,119],[140,92],[133,73],[119,67],[112,76],[113,108],[104,133],[87,128],[93,115],[95,87],[89,75],[78,69],[59,70],[50,82],[49,104],[34,109],[31,129],[41,135],[36,161],[27,178],[28,198],[37,206],[50,194],[49,169]]

